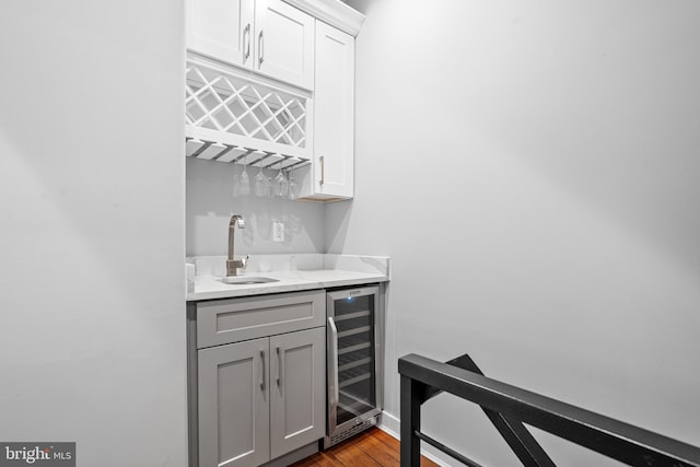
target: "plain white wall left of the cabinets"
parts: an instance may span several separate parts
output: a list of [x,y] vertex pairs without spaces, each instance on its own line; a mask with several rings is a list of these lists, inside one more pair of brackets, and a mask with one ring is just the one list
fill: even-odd
[[0,5],[0,440],[185,466],[182,2]]

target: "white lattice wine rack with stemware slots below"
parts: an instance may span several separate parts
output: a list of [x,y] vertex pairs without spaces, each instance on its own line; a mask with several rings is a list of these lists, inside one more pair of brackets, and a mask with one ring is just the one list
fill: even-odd
[[287,170],[310,163],[311,98],[249,74],[188,56],[187,156]]

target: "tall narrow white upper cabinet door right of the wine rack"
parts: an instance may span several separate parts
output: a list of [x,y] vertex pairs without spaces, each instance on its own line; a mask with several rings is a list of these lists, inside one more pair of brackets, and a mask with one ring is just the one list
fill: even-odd
[[354,37],[316,23],[314,191],[352,198],[354,165]]

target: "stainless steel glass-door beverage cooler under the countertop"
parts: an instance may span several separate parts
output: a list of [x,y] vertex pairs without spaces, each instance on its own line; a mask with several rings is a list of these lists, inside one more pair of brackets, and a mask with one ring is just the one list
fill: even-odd
[[330,290],[326,300],[329,447],[377,423],[384,374],[378,285]]

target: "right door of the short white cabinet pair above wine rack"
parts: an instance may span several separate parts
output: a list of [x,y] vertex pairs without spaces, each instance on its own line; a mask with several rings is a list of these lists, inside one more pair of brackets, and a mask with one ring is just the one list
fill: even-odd
[[307,90],[314,87],[313,16],[281,0],[255,2],[255,63],[262,74]]

